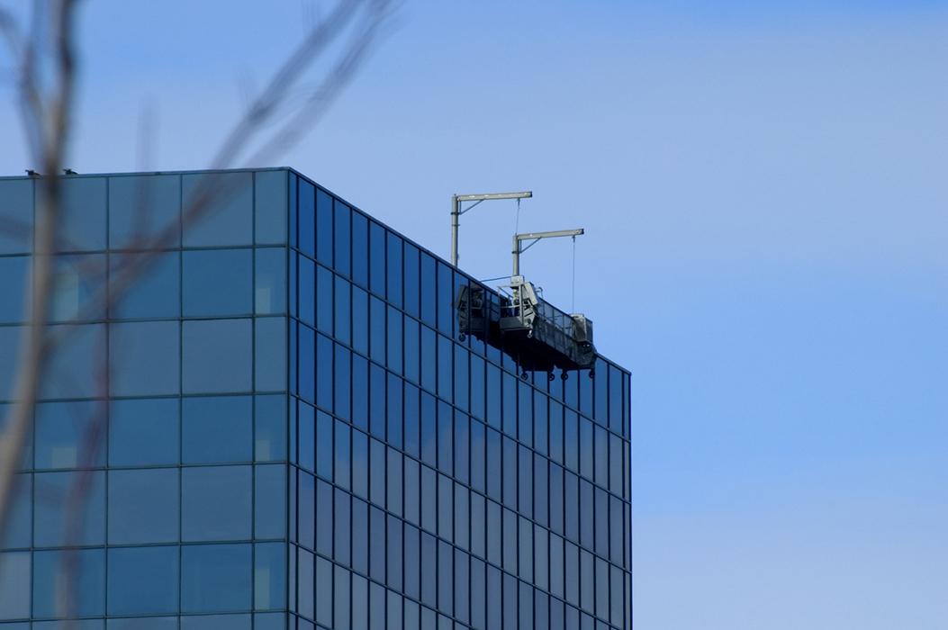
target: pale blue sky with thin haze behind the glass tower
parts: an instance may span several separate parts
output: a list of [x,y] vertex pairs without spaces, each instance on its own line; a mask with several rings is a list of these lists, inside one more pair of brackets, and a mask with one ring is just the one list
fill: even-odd
[[[70,166],[206,165],[328,8],[88,2]],[[633,372],[638,630],[948,627],[943,0],[409,0],[280,162],[446,256],[452,192],[587,229],[575,310]],[[465,215],[462,266],[509,273],[515,210]],[[523,260],[566,308],[571,251]]]

